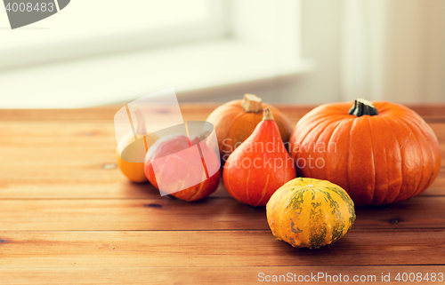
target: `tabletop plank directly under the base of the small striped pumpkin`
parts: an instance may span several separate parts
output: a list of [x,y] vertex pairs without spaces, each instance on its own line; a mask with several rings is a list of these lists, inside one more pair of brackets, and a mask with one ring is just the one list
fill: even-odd
[[[270,231],[0,232],[0,264],[33,267],[445,265],[444,230],[357,230],[294,249]],[[174,268],[172,268],[174,270]]]

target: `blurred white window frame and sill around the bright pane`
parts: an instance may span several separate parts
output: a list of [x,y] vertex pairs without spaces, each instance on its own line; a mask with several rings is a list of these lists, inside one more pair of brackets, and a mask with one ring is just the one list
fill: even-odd
[[[35,62],[13,72],[0,70],[0,84],[11,93],[0,107],[93,107],[169,87],[174,87],[180,101],[196,100],[198,91],[276,83],[313,70],[312,61],[301,56],[301,0],[215,3],[222,5],[219,15],[225,20],[215,20],[209,28],[214,34],[207,34],[206,29],[197,33],[196,41],[189,37],[180,44],[175,38],[174,44],[160,41],[151,48],[101,50],[100,57],[93,56],[93,47],[85,44],[77,52],[89,55],[80,59]],[[37,58],[44,58],[44,53]]]

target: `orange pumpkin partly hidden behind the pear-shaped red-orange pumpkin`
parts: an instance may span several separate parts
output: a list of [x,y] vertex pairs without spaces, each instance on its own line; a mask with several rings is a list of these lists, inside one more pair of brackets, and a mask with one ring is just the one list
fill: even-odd
[[262,103],[262,99],[253,94],[244,95],[243,100],[233,100],[217,107],[207,118],[213,123],[222,164],[229,155],[254,132],[263,120],[263,107],[270,107],[283,142],[288,142],[292,125],[285,115],[275,107]]

